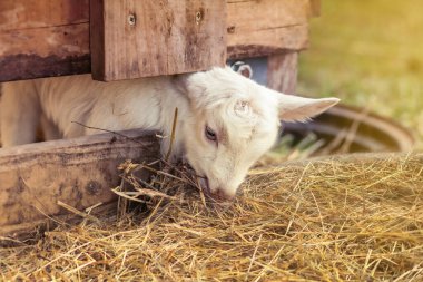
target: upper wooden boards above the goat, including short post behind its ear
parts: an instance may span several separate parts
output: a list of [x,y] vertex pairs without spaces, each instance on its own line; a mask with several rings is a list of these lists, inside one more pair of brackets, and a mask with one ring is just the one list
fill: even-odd
[[2,0],[0,81],[91,70],[108,81],[270,56],[282,90],[317,12],[318,0]]

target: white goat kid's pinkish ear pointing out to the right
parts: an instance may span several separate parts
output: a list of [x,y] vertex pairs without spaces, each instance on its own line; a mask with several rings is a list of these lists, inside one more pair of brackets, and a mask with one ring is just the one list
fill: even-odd
[[312,99],[286,94],[277,95],[279,119],[285,121],[306,121],[340,101],[338,98]]

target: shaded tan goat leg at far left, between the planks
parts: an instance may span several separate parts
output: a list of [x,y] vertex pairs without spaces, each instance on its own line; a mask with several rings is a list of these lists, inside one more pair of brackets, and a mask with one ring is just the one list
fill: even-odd
[[0,107],[3,147],[36,142],[41,107],[32,81],[3,84]]

